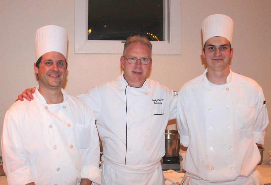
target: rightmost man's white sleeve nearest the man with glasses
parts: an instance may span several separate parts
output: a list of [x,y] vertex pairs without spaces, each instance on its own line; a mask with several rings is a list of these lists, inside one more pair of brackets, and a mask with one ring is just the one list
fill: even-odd
[[184,107],[185,107],[185,91],[181,89],[177,99],[177,128],[180,134],[181,145],[187,147],[189,143],[189,132],[185,118]]

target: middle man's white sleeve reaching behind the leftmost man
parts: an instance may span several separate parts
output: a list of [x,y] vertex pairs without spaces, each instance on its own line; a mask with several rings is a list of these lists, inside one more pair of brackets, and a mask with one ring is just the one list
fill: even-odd
[[93,87],[84,94],[80,94],[77,98],[82,99],[87,106],[93,111],[95,119],[97,120],[100,115],[101,103],[100,93],[98,86]]

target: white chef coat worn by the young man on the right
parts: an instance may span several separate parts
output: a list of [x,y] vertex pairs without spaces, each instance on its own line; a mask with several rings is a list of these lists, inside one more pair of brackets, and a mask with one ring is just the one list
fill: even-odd
[[183,168],[209,182],[247,177],[260,161],[268,114],[262,88],[230,70],[211,86],[206,71],[187,82],[177,103],[180,141],[188,146]]

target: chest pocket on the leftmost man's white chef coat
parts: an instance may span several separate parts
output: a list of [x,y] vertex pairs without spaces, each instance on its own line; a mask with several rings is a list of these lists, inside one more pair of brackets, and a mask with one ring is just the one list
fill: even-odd
[[90,125],[75,124],[74,127],[76,145],[78,149],[87,149],[90,147],[91,128]]

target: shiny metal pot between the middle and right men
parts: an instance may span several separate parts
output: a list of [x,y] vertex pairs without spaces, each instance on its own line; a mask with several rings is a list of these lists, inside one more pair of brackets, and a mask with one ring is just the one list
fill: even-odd
[[168,129],[165,131],[166,154],[165,157],[179,156],[180,135],[177,130]]

